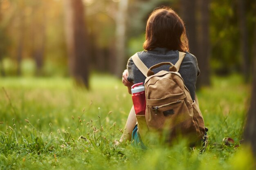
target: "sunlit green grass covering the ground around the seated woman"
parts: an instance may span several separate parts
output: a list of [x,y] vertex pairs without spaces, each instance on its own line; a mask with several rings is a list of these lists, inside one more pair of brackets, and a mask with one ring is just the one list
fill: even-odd
[[[216,170],[254,169],[243,139],[249,86],[238,75],[213,77],[198,99],[209,145],[204,154],[173,147],[146,151],[114,145],[132,101],[121,80],[92,75],[91,90],[68,78],[0,79],[0,169]],[[226,146],[224,137],[235,143]],[[236,146],[239,147],[236,147]]]

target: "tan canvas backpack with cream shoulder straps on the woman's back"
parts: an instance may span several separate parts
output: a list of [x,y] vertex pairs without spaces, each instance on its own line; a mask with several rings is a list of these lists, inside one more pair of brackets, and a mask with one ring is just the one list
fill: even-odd
[[[132,56],[135,65],[146,76],[146,114],[136,115],[138,132],[144,144],[150,142],[147,140],[149,134],[157,134],[156,136],[165,142],[186,137],[190,143],[195,143],[204,137],[204,120],[198,104],[192,100],[184,80],[178,73],[185,54],[179,52],[179,60],[175,65],[162,62],[149,69],[137,53]],[[170,65],[169,71],[156,74],[152,71],[165,64]]]

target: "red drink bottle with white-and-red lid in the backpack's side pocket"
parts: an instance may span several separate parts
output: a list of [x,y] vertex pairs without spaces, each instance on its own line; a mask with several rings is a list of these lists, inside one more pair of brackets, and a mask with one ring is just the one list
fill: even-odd
[[146,97],[143,83],[137,83],[132,86],[132,102],[136,115],[145,115]]

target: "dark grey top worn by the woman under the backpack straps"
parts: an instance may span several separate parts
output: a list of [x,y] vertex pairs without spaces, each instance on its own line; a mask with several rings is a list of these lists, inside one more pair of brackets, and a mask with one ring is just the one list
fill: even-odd
[[[137,53],[141,61],[150,68],[151,66],[158,64],[160,62],[171,62],[175,64],[179,59],[178,51],[170,51],[166,48],[155,48],[150,51],[141,51]],[[161,66],[159,68],[153,69],[154,73],[157,73],[161,70],[169,70],[168,65]],[[137,66],[135,66],[134,62],[130,58],[127,64],[128,69],[128,81],[133,83],[145,82],[146,77],[139,71]],[[200,70],[198,68],[198,62],[196,57],[188,52],[180,65],[179,70],[180,75],[184,79],[185,86],[189,89],[191,94],[191,98],[195,99],[195,83],[197,76],[200,74]]]

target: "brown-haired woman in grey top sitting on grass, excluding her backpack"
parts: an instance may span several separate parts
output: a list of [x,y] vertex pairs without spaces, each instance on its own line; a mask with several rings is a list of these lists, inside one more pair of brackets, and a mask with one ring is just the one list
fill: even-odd
[[[184,79],[184,84],[188,88],[191,98],[195,100],[195,84],[200,71],[194,55],[190,54],[189,43],[186,37],[186,30],[182,19],[170,8],[155,9],[149,16],[146,25],[146,40],[144,51],[138,52],[141,61],[150,68],[160,62],[171,62],[175,64],[179,58],[179,51],[186,53],[179,73]],[[155,73],[166,70],[165,65],[154,70]],[[128,87],[130,92],[132,84],[144,82],[146,77],[135,66],[132,58],[128,60],[127,70],[123,73],[122,82]],[[137,126],[135,111],[132,107],[128,116],[126,127],[120,141],[139,140],[137,137]],[[136,142],[136,141],[135,141]]]

